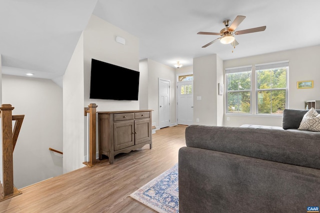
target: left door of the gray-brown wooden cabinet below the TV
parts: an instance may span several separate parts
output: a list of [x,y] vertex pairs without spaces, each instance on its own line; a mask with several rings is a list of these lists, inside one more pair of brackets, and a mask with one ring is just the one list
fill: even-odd
[[134,122],[124,121],[113,124],[114,151],[134,145]]

